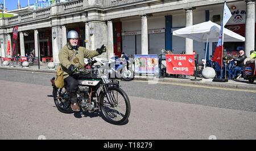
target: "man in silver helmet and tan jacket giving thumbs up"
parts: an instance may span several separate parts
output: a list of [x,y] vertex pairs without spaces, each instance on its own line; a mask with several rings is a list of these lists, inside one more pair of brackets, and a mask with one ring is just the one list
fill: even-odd
[[[77,44],[78,38],[79,35],[76,31],[69,31],[68,43],[59,53],[61,68],[64,71],[64,81],[67,83],[67,91],[73,111],[80,111],[80,107],[77,104],[79,82],[77,81],[76,75],[73,75],[73,73],[77,73],[79,72],[79,68],[83,68],[84,58],[92,58],[106,52],[106,47],[104,45],[102,45],[101,48],[96,49],[96,51],[89,51],[84,47],[80,47]],[[79,63],[74,63],[73,58],[79,58]],[[94,75],[87,74],[85,76],[92,77]]]

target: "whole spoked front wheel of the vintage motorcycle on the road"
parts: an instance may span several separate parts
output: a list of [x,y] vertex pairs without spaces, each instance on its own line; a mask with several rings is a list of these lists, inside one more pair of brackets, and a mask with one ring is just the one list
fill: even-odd
[[100,95],[102,115],[109,123],[121,125],[125,123],[130,116],[130,100],[125,91],[119,87],[108,87],[108,91],[113,101],[107,98],[106,93]]

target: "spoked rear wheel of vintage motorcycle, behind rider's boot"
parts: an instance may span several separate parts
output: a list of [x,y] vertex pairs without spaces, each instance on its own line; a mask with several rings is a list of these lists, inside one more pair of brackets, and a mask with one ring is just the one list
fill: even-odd
[[53,97],[54,103],[60,112],[67,113],[67,114],[72,112],[72,108],[68,100],[68,92],[65,87],[61,89],[54,87],[52,94],[54,96]]

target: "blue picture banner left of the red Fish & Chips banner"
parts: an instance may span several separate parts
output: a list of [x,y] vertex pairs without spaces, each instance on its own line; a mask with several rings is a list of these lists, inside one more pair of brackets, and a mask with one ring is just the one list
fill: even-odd
[[158,74],[158,55],[156,54],[135,54],[135,73]]

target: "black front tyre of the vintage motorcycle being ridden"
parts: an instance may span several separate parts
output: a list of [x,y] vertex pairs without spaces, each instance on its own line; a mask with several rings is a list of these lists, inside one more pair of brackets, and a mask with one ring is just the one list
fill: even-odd
[[129,116],[130,116],[130,112],[131,112],[131,104],[130,104],[130,100],[129,98],[127,97],[127,94],[125,93],[125,91],[123,91],[121,88],[119,87],[115,87],[115,86],[111,86],[111,87],[108,87],[108,90],[111,91],[111,90],[115,90],[115,91],[118,91],[119,94],[122,95],[122,97],[124,98],[125,100],[125,104],[126,104],[126,112],[125,112],[125,116],[123,116],[123,118],[119,121],[114,121],[112,120],[111,118],[109,118],[105,111],[102,110],[103,106],[104,106],[104,98],[105,98],[105,93],[101,93],[100,96],[99,96],[99,100],[100,100],[100,108],[101,108],[101,117],[108,121],[109,123],[111,124],[115,124],[115,125],[122,125],[124,124]]

